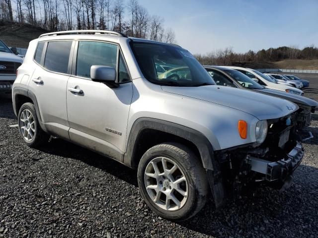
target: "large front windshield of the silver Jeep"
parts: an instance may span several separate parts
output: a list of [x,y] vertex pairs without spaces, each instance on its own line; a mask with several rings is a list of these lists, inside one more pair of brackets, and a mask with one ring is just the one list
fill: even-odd
[[132,42],[131,45],[144,76],[152,83],[180,87],[215,85],[187,50],[157,43]]

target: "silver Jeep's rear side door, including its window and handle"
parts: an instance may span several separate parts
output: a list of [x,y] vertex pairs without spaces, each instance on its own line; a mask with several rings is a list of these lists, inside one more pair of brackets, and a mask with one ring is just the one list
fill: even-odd
[[34,55],[37,64],[29,90],[35,94],[40,116],[47,128],[68,138],[66,87],[71,73],[73,41],[40,42]]

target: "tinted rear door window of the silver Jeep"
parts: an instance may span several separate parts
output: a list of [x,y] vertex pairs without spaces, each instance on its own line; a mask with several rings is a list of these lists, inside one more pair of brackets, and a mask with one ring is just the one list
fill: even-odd
[[72,41],[52,41],[48,43],[44,67],[59,73],[67,73]]

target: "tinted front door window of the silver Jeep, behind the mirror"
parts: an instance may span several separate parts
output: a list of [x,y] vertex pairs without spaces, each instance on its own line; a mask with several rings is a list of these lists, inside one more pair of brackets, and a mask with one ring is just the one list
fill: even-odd
[[[80,41],[76,63],[76,75],[90,78],[91,65],[104,65],[116,68],[117,51],[118,47],[114,44]],[[124,66],[121,68],[123,69],[123,67]],[[127,76],[123,76],[122,80],[124,80],[125,77],[127,78]]]

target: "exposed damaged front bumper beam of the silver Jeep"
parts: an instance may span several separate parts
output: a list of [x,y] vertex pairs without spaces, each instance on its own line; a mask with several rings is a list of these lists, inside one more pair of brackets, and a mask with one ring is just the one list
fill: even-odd
[[287,154],[286,158],[278,161],[268,161],[249,156],[248,163],[251,171],[262,174],[266,181],[284,181],[300,165],[304,157],[304,148],[300,142]]

